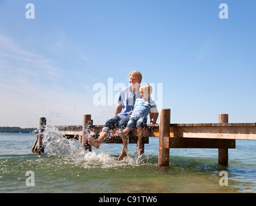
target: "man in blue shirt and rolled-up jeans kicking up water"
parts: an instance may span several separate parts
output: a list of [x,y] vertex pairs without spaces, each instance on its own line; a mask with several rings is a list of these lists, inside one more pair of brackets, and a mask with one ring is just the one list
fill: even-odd
[[126,127],[129,118],[132,115],[136,98],[141,98],[139,88],[143,76],[139,71],[132,71],[129,75],[130,86],[121,90],[114,117],[106,121],[99,138],[95,140],[92,138],[92,136],[88,137],[88,143],[97,149],[100,147],[106,136],[108,136],[110,130],[117,126],[119,126],[119,128],[122,130]]

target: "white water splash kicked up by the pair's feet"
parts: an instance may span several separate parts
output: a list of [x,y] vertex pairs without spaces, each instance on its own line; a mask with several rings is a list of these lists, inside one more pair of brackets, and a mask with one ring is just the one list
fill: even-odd
[[[96,153],[95,151],[84,150],[80,142],[75,139],[64,138],[54,126],[46,127],[43,133],[43,145],[46,147],[48,156],[57,156],[66,162],[81,165],[84,168],[139,166],[142,164],[152,164],[154,159],[146,154],[128,153],[128,156],[123,161],[118,162],[118,156],[106,153],[105,151]],[[153,160],[153,164],[155,164],[155,160]]]

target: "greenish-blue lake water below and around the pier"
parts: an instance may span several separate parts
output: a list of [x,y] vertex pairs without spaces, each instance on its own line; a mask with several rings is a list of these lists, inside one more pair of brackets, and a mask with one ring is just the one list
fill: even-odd
[[[237,148],[229,149],[228,167],[217,164],[217,149],[170,149],[168,168],[157,166],[155,137],[145,144],[141,156],[130,144],[129,155],[122,162],[117,161],[121,144],[104,144],[87,152],[52,127],[46,129],[45,154],[31,152],[34,141],[35,134],[0,133],[0,193],[256,192],[253,140],[237,140]],[[221,171],[226,171],[227,182]]]

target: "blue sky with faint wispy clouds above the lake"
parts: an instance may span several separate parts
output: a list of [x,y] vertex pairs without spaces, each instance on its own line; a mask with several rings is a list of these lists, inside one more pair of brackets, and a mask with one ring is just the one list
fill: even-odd
[[[35,127],[39,117],[81,125],[84,114],[104,124],[133,70],[155,84],[172,123],[218,122],[219,113],[256,122],[255,8],[254,0],[1,0],[0,126]],[[95,105],[99,85],[106,106]]]

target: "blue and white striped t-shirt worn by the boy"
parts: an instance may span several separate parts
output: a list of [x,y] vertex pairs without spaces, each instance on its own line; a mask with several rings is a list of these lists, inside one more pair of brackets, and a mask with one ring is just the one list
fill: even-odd
[[131,117],[148,117],[152,109],[157,109],[153,100],[138,98],[135,101],[134,111]]

